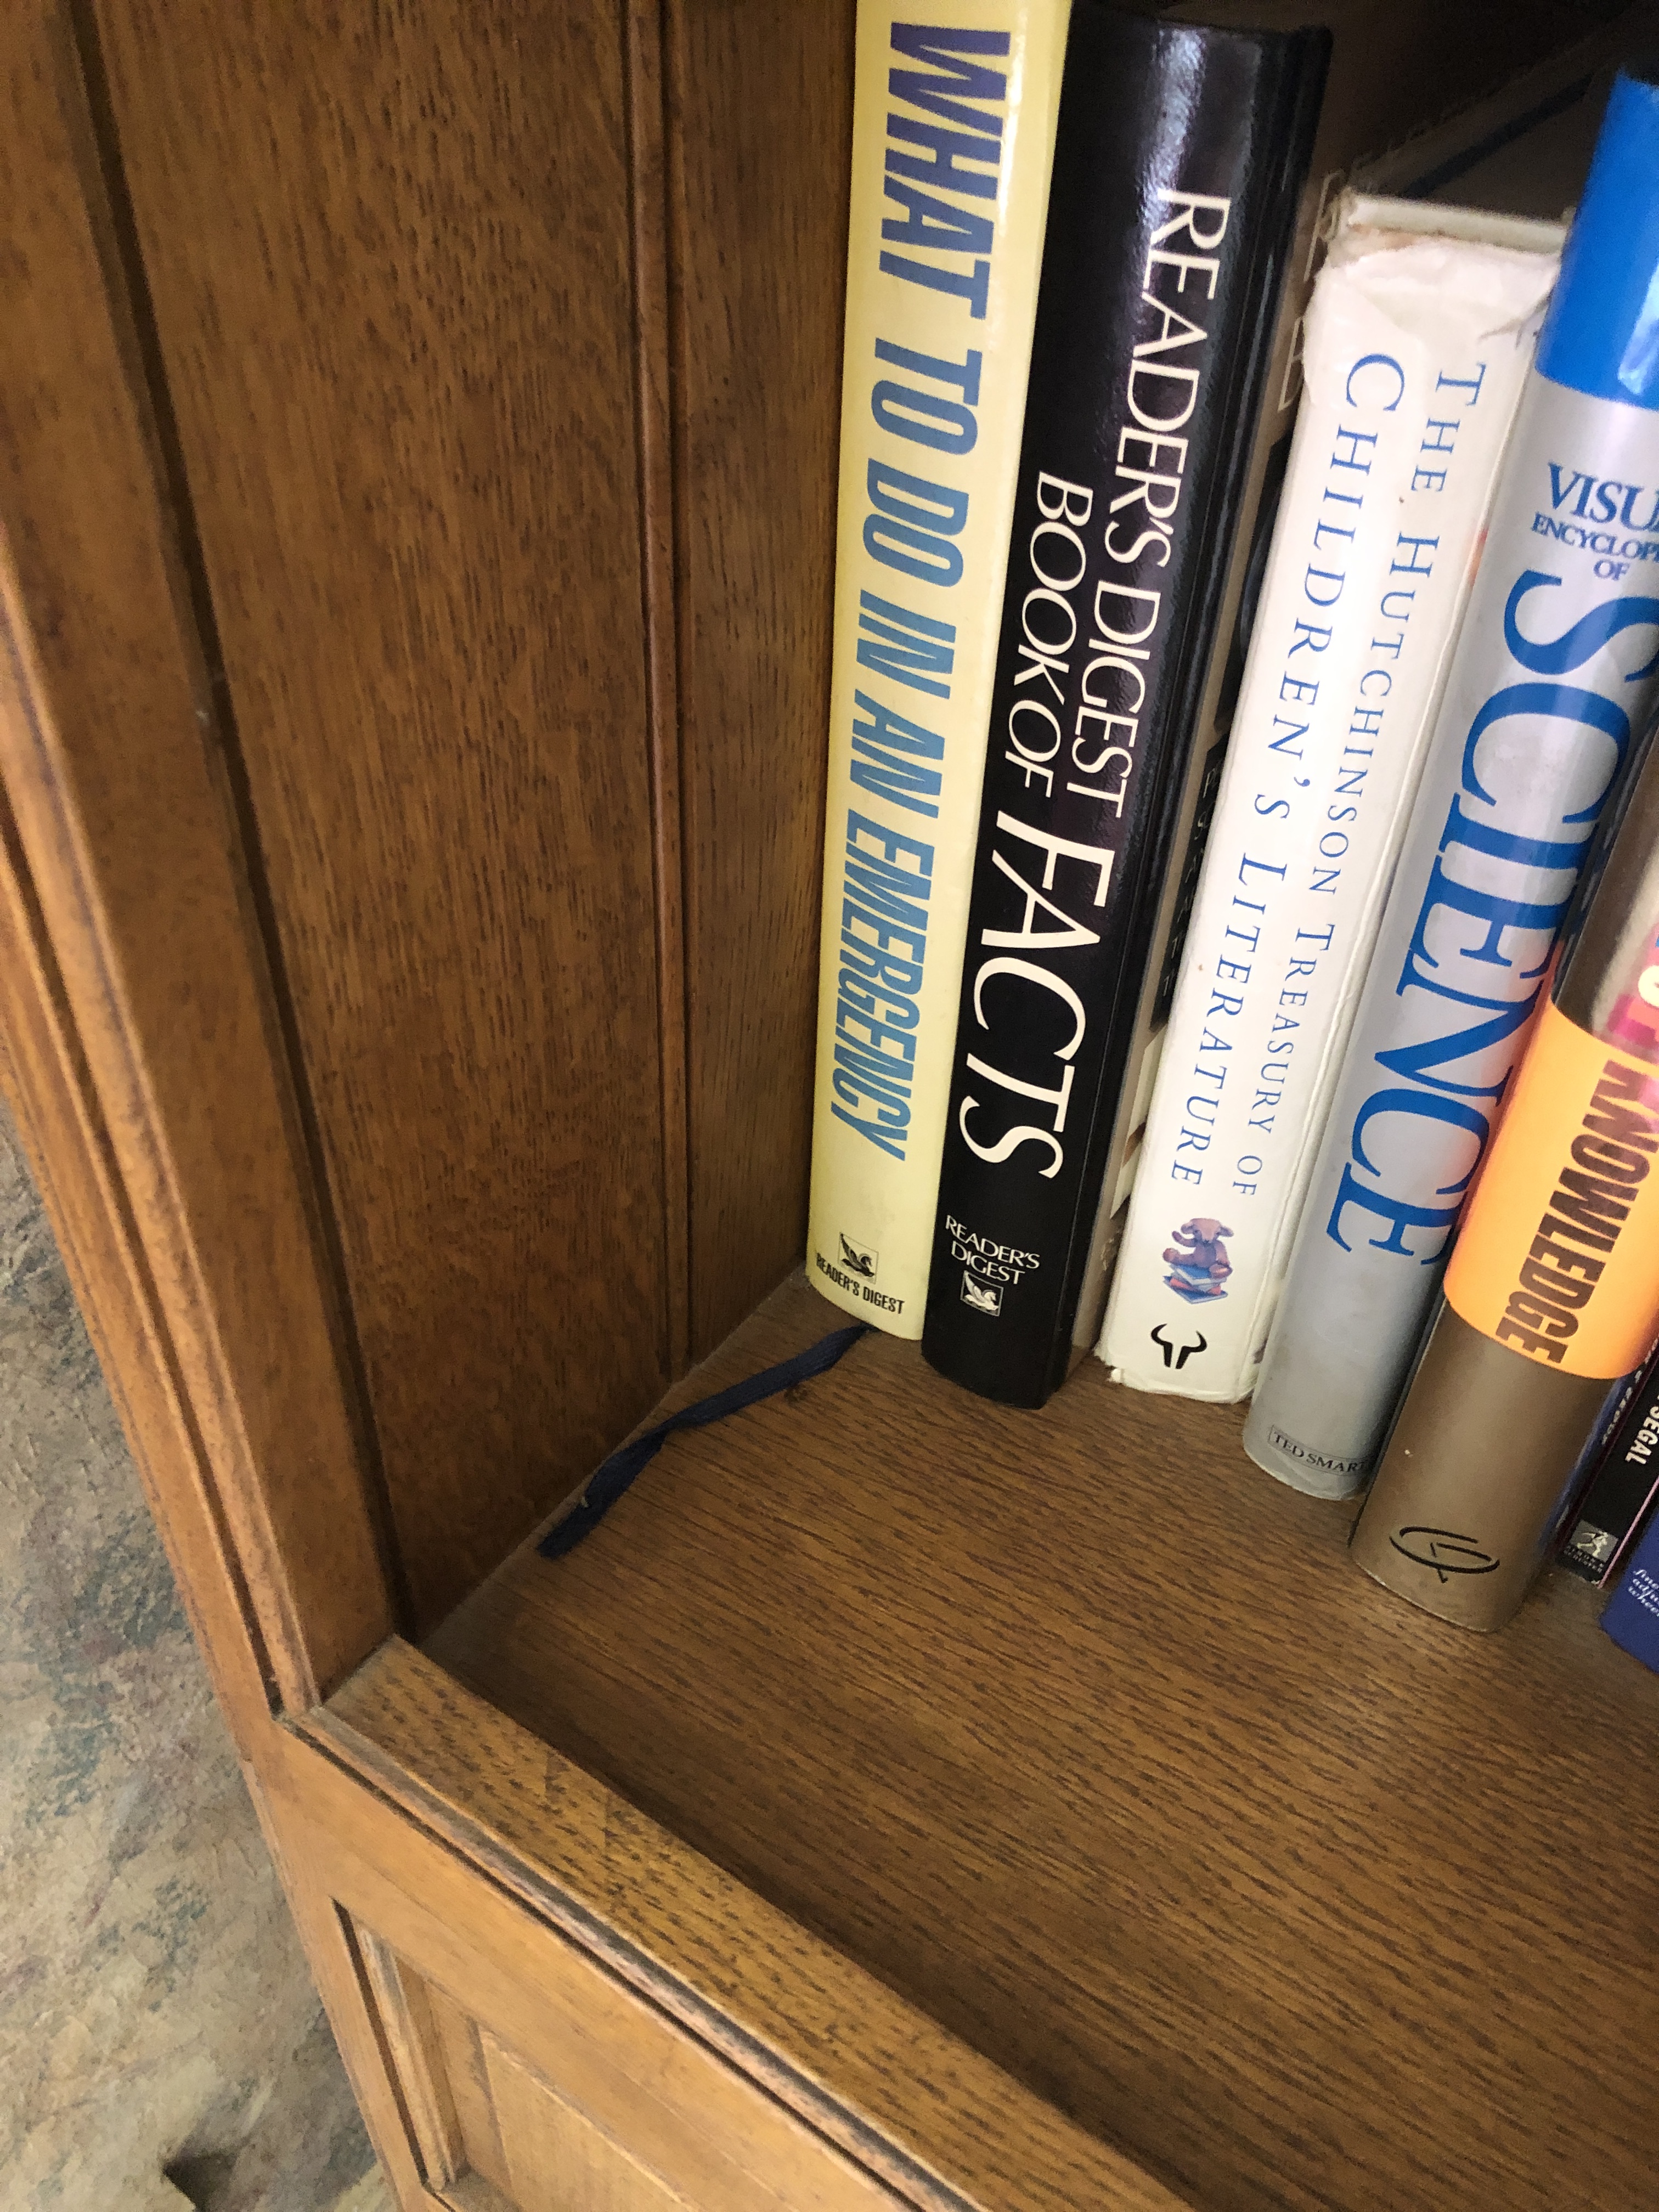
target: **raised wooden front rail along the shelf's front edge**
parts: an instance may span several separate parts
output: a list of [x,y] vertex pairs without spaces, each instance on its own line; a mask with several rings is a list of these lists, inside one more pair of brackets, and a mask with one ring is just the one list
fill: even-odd
[[[1150,2174],[398,1639],[305,1734],[409,1838],[436,1836],[586,1947],[905,2203],[1179,2212]],[[400,1865],[418,1887],[414,1840]]]

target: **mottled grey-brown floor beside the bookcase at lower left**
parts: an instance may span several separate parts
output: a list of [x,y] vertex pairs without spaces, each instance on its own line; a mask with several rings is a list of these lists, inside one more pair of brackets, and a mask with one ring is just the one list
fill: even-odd
[[323,2212],[367,2166],[0,1110],[0,2212]]

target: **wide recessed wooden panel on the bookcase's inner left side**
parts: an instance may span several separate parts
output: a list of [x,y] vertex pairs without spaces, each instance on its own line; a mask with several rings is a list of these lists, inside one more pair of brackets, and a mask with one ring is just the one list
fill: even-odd
[[431,1621],[668,1371],[622,9],[97,24]]

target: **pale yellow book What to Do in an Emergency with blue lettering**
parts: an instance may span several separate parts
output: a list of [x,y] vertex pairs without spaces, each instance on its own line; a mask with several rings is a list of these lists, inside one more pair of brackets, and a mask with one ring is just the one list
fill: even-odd
[[1066,0],[860,4],[807,1274],[922,1334]]

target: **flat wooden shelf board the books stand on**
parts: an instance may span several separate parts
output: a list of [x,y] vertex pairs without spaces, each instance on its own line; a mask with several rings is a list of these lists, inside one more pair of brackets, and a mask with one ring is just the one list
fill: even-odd
[[[838,1323],[796,1276],[664,1407]],[[1646,2201],[1659,1681],[1568,1577],[1389,1597],[1239,1427],[872,1334],[427,1650],[1199,2205]]]

